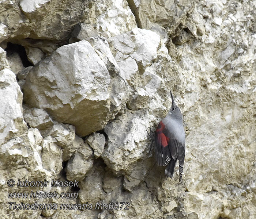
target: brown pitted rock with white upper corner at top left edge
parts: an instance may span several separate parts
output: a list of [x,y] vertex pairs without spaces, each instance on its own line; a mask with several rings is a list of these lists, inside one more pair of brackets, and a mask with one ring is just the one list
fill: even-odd
[[67,39],[79,20],[85,19],[88,3],[84,1],[22,0],[21,10],[30,20],[29,38],[58,41]]

